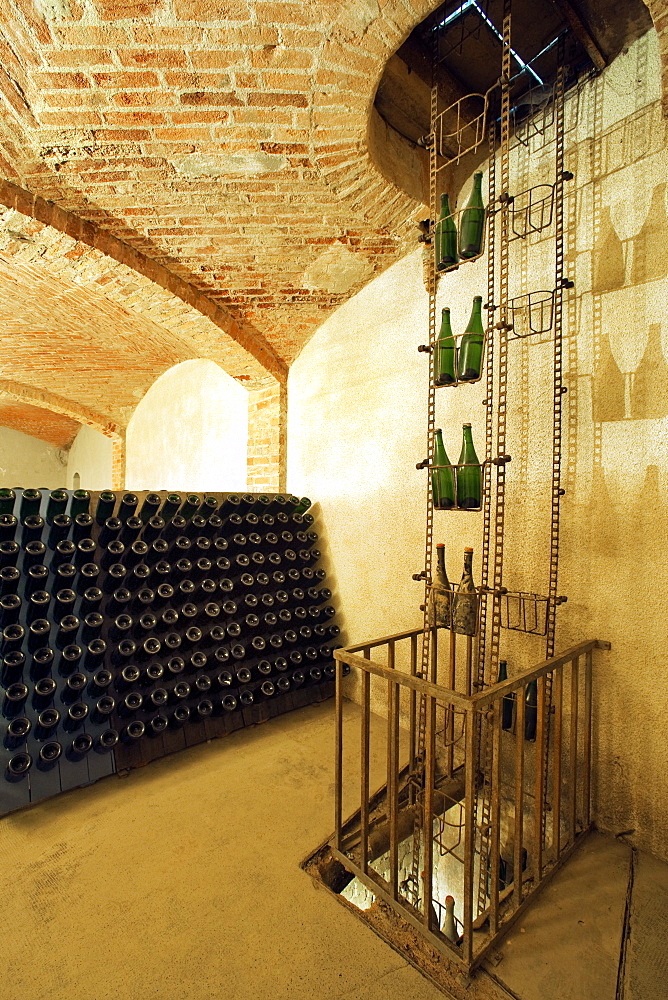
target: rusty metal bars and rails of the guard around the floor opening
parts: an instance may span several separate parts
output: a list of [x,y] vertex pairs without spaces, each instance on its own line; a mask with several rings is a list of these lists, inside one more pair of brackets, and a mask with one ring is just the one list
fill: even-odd
[[[430,646],[436,641],[435,633],[447,631],[429,628],[426,640]],[[454,962],[467,972],[482,961],[500,937],[507,932],[512,923],[522,913],[525,907],[549,880],[554,872],[564,863],[580,840],[591,828],[590,788],[591,788],[591,726],[592,726],[592,671],[594,650],[609,649],[610,644],[599,640],[589,640],[565,650],[559,656],[553,656],[543,662],[523,671],[509,680],[486,687],[484,690],[470,690],[462,693],[442,683],[436,683],[434,671],[430,678],[420,677],[415,670],[417,642],[424,637],[424,629],[411,629],[394,635],[385,636],[366,642],[359,646],[335,651],[336,660],[336,746],[335,746],[335,830],[330,841],[331,853],[344,867],[355,875],[374,895],[388,903],[402,919],[408,921],[425,940],[433,945],[444,957]],[[397,663],[397,644],[407,642],[415,651],[410,657],[408,670],[399,669]],[[371,659],[371,650],[384,649],[387,663]],[[360,655],[360,653],[362,655]],[[403,662],[403,660],[401,660]],[[361,674],[362,705],[360,716],[361,732],[361,800],[360,808],[345,821],[342,817],[341,803],[345,785],[343,769],[344,745],[344,700],[343,700],[343,665],[348,664]],[[387,684],[387,772],[386,783],[371,798],[369,797],[369,741],[370,741],[370,690],[371,678],[376,677]],[[553,679],[553,694],[555,700],[554,739],[551,742],[552,760],[552,822],[554,829],[560,829],[560,820],[565,823],[568,834],[565,842],[556,840],[556,845],[549,852],[544,850],[543,831],[545,828],[545,795],[543,782],[545,775],[540,766],[535,768],[535,788],[529,791],[532,800],[533,821],[531,823],[530,840],[527,841],[523,829],[524,815],[523,799],[527,794],[527,772],[524,766],[527,746],[524,735],[525,692],[527,685],[538,682],[538,722],[536,726],[536,762],[544,757],[545,731],[547,719],[547,679]],[[568,716],[567,745],[563,744],[563,726],[565,718],[562,712],[562,693],[564,678],[570,696],[570,714]],[[402,691],[415,693],[426,706],[425,712],[425,760],[424,760],[424,803],[418,804],[419,811],[424,810],[428,824],[433,824],[437,806],[436,796],[439,795],[439,779],[435,772],[435,760],[439,749],[440,733],[436,729],[436,717],[439,705],[451,705],[463,713],[465,727],[465,755],[463,771],[462,795],[464,799],[464,891],[463,891],[463,933],[460,942],[449,941],[438,928],[437,910],[442,909],[442,900],[436,899],[433,885],[433,836],[425,837],[423,865],[421,873],[423,881],[423,906],[418,908],[414,902],[402,894],[399,884],[399,802],[408,802],[405,793],[410,784],[411,774],[408,765],[402,766],[400,754],[400,707]],[[515,842],[513,881],[510,885],[501,885],[499,878],[499,829],[500,812],[502,808],[502,739],[507,734],[502,731],[502,703],[504,696],[514,695],[517,703],[514,766],[515,799]],[[477,912],[474,899],[474,877],[477,861],[476,851],[476,809],[475,799],[480,794],[477,786],[477,761],[475,741],[477,717],[485,715],[491,733],[491,768],[490,768],[490,867],[485,879],[489,876],[489,904],[482,913]],[[412,714],[411,732],[412,737]],[[542,734],[542,735],[541,735]],[[507,747],[506,747],[507,749]],[[562,750],[568,755],[569,788],[566,794],[561,792],[561,762]],[[409,748],[409,757],[412,748]],[[557,764],[558,760],[558,764]],[[519,803],[519,808],[518,808]],[[389,878],[383,878],[374,868],[369,859],[369,829],[370,810],[378,811],[386,817],[389,827]],[[448,807],[449,808],[449,807]],[[377,818],[374,822],[378,822]],[[359,833],[359,850],[353,851],[346,845],[351,842],[351,831]],[[404,833],[404,837],[406,834]],[[409,834],[410,836],[410,834]],[[559,834],[560,836],[560,834]],[[532,865],[523,873],[523,848],[529,847]],[[485,923],[488,932],[480,931]],[[474,932],[475,935],[474,935]]]

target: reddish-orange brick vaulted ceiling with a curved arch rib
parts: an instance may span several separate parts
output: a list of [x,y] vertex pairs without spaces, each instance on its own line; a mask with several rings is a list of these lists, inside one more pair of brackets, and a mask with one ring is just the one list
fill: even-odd
[[437,6],[0,0],[0,392],[122,426],[188,358],[284,381],[415,245],[424,210],[367,127],[386,60]]

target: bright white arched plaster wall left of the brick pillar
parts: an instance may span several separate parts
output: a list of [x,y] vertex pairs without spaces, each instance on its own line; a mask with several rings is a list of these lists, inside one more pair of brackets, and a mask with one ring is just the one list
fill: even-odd
[[248,392],[213,361],[161,375],[128,424],[128,489],[246,489]]

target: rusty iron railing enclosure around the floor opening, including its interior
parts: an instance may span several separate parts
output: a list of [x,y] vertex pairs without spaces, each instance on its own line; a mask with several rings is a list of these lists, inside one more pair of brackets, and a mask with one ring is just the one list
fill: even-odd
[[[427,633],[413,629],[335,653],[335,831],[330,846],[373,896],[468,972],[591,828],[592,658],[595,650],[610,647],[595,639],[582,642],[477,691],[471,637],[442,628]],[[418,643],[425,638],[431,669],[421,677]],[[359,784],[357,776],[351,779],[350,764],[344,768],[344,760],[356,758],[349,743],[344,752],[344,664],[359,672],[361,685],[354,737]],[[386,780],[373,794],[372,688],[374,714],[383,712],[387,737]],[[418,745],[422,699],[424,748]],[[484,772],[476,763],[480,739],[491,747],[490,767]],[[422,750],[424,760],[416,761]],[[547,767],[541,766],[545,761]],[[416,769],[423,771],[417,788]],[[354,796],[358,803],[348,819],[343,817],[344,796],[347,801]],[[489,861],[476,847],[482,797],[491,804],[485,831]],[[417,897],[410,881],[416,825],[432,831],[422,838]],[[482,903],[477,891],[481,881],[486,885]],[[451,937],[441,921],[446,895],[456,903]]]

